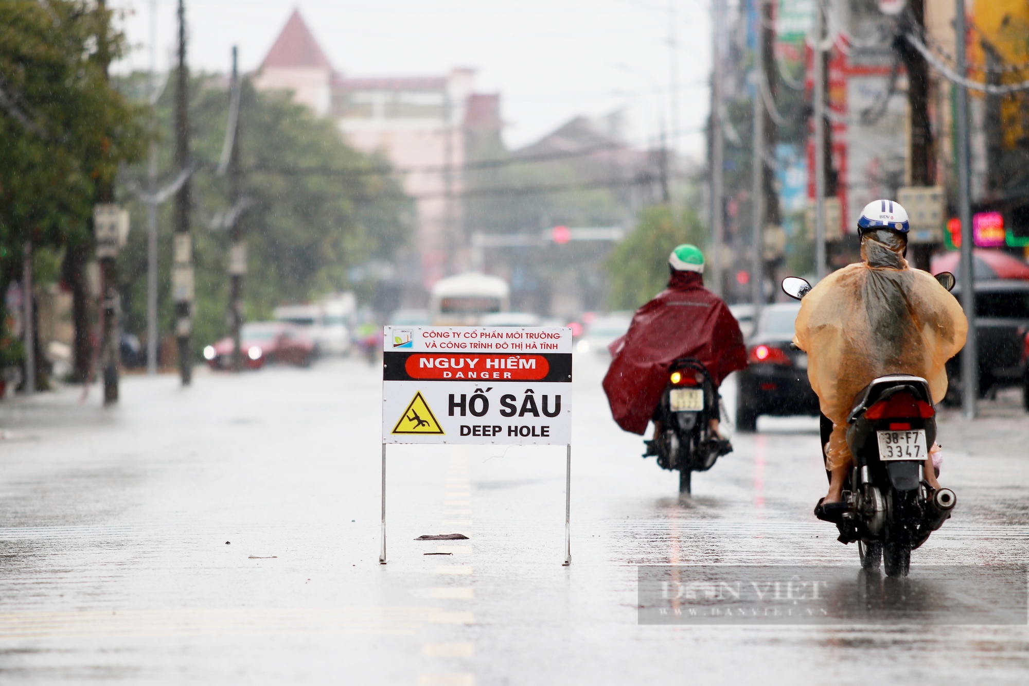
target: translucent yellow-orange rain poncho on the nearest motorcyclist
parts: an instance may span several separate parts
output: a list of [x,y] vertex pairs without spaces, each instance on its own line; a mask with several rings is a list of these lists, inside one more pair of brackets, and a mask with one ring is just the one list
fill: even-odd
[[909,269],[902,250],[899,237],[888,245],[866,235],[864,262],[828,275],[801,301],[793,343],[808,352],[811,387],[832,420],[827,470],[851,461],[847,415],[861,389],[880,376],[913,374],[938,403],[944,365],[964,345],[961,306],[928,272]]

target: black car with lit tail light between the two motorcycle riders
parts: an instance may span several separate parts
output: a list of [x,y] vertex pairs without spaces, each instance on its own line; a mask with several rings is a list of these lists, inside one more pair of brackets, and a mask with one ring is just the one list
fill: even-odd
[[808,353],[794,350],[793,322],[800,303],[768,305],[747,344],[747,369],[738,374],[736,427],[752,432],[757,416],[817,415],[818,396],[808,381]]

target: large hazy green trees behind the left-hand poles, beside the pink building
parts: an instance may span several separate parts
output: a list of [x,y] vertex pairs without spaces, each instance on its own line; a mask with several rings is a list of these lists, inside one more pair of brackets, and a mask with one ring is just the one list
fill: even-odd
[[[173,178],[175,74],[155,106],[158,134],[158,178]],[[120,87],[144,94],[146,77],[136,74]],[[193,262],[196,267],[194,343],[199,349],[226,335],[229,235],[212,229],[219,212],[227,213],[226,176],[214,171],[221,156],[228,115],[228,90],[216,76],[190,79]],[[244,170],[242,195],[249,205],[240,216],[248,249],[244,278],[248,320],[271,317],[277,305],[304,302],[352,287],[348,270],[372,258],[389,259],[409,236],[411,201],[399,184],[378,172],[386,163],[347,145],[333,122],[283,93],[257,92],[245,81],[238,144]],[[128,183],[146,187],[145,168],[126,174]],[[172,331],[171,301],[174,203],[158,216],[161,331]],[[119,260],[126,328],[146,329],[146,207],[130,206],[133,230]]]

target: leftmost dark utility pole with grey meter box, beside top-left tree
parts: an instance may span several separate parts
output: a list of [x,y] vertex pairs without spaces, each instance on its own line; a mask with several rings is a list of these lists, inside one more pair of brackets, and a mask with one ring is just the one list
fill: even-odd
[[[101,18],[101,35],[97,57],[100,60],[104,73],[104,80],[107,80],[107,69],[110,65],[110,50],[107,45],[107,29],[110,26],[110,15],[104,0],[98,3],[98,12]],[[111,207],[114,202],[114,179],[101,178],[97,181],[97,205],[107,205]],[[101,231],[97,226],[96,214],[94,215],[94,233],[97,238],[101,238]],[[117,227],[117,221],[109,226]],[[118,314],[120,310],[120,298],[118,296],[118,271],[117,271],[117,249],[118,232],[117,229],[111,237],[108,232],[105,238],[113,238],[101,245],[98,241],[97,256],[100,259],[100,297],[103,299],[103,322],[101,334],[100,359],[104,374],[104,405],[114,405],[118,402],[118,367],[120,355],[118,349],[119,322]]]

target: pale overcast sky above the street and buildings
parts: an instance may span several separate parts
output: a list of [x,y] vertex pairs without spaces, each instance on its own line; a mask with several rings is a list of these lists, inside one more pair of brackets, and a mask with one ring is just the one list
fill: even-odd
[[[627,138],[643,146],[671,119],[669,6],[679,84],[678,149],[703,157],[711,21],[707,0],[187,0],[189,65],[224,72],[233,44],[244,70],[260,65],[293,8],[332,66],[354,76],[476,70],[480,92],[499,92],[508,145],[535,140],[576,114],[628,113]],[[119,71],[147,69],[150,21],[157,69],[175,47],[177,0],[111,0],[125,10],[133,52]],[[674,126],[669,126],[672,131]]]

